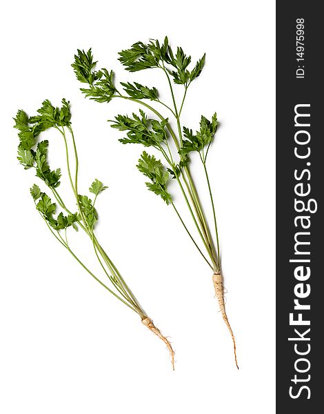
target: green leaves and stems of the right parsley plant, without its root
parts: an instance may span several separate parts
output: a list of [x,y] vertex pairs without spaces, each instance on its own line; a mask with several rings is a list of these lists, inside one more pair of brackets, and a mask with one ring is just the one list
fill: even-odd
[[[207,154],[219,123],[216,113],[214,113],[212,119],[201,116],[199,129],[195,133],[192,129],[181,125],[181,113],[188,88],[192,81],[201,75],[205,64],[205,54],[196,63],[192,64],[190,55],[186,55],[181,47],[175,50],[172,49],[168,37],[165,37],[163,42],[150,40],[148,43],[142,41],[134,43],[130,48],[119,52],[119,61],[129,72],[153,68],[161,70],[168,80],[173,107],[159,99],[159,91],[155,86],[143,86],[141,83],[130,81],[121,82],[121,88],[123,89],[123,92],[121,92],[114,84],[114,73],[111,70],[96,70],[97,62],[93,59],[91,49],[88,52],[78,50],[77,55],[74,56],[72,68],[79,81],[88,83],[88,88],[81,88],[86,97],[99,102],[109,102],[114,98],[134,101],[142,108],[144,107],[144,110],[150,110],[156,116],[155,119],[149,118],[143,109],[140,109],[138,114],[133,113],[132,116],[117,115],[112,120],[112,128],[125,132],[126,137],[119,139],[122,144],[142,144],[161,152],[165,164],[160,159],[156,159],[153,155],[148,155],[144,151],[137,168],[145,177],[150,179],[146,182],[148,189],[159,195],[166,204],[173,206],[177,217],[179,217],[181,224],[205,262],[214,270],[214,273],[220,272],[219,235],[214,199],[206,165]],[[172,83],[183,88],[183,97],[179,103],[176,102]],[[176,132],[172,128],[169,118],[162,115],[155,106],[152,106],[153,103],[164,106],[174,117],[177,127]],[[170,141],[173,141],[174,145],[171,146]],[[190,170],[190,158],[193,152],[199,154],[205,172],[214,217],[216,248]],[[175,206],[172,194],[168,190],[170,177],[175,179],[179,185],[203,247],[199,246],[196,236],[190,233],[188,225],[185,224]],[[205,249],[205,253],[203,253],[203,249]]]

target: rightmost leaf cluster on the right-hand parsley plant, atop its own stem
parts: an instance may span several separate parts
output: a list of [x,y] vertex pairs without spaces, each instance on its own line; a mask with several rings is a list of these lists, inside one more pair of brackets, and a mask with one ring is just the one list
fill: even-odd
[[[183,146],[179,150],[179,154],[188,155],[189,152],[197,151],[199,153],[203,152],[203,148],[207,146],[207,151],[214,139],[214,135],[217,130],[219,122],[217,121],[216,112],[212,116],[212,121],[209,121],[207,118],[201,116],[200,129],[196,131],[196,134],[192,132],[191,129],[183,127]],[[204,156],[203,161],[206,160],[207,152]]]

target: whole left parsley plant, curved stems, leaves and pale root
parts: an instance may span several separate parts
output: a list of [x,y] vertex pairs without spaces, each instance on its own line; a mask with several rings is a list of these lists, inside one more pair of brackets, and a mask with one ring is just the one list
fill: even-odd
[[[48,190],[54,196],[56,203],[52,202],[50,197],[41,191],[39,186],[34,184],[30,188],[30,194],[34,200],[34,204],[39,215],[45,221],[46,226],[57,239],[57,241],[77,260],[77,262],[86,270],[101,286],[103,286],[120,302],[136,312],[145,326],[148,326],[150,331],[157,335],[168,347],[172,359],[172,368],[174,369],[174,351],[168,339],[166,339],[158,328],[156,328],[152,320],[145,313],[139,301],[136,299],[128,284],[117,270],[110,257],[108,257],[105,250],[95,235],[94,228],[97,224],[98,215],[95,204],[97,196],[103,192],[107,186],[104,186],[101,181],[95,179],[89,188],[90,193],[94,195],[92,201],[87,195],[80,195],[78,189],[78,172],[79,159],[77,155],[77,146],[74,140],[74,134],[71,124],[70,105],[65,99],[62,100],[61,108],[54,108],[50,101],[45,100],[41,108],[37,111],[38,114],[34,117],[28,117],[26,112],[19,110],[16,118],[14,118],[14,128],[19,130],[19,147],[18,160],[23,165],[25,170],[34,168],[37,177],[41,179],[48,187]],[[75,208],[77,211],[72,213],[63,201],[57,188],[61,184],[61,169],[51,170],[48,164],[48,141],[38,141],[41,132],[54,128],[59,132],[63,139],[63,146],[65,148],[65,161],[68,169],[68,179],[70,181],[71,190],[74,196]],[[38,141],[38,142],[37,142]],[[71,155],[69,147],[72,146],[72,156],[74,157],[74,175],[71,172]],[[57,204],[61,212],[57,213]],[[72,246],[68,241],[68,230],[74,228],[78,230],[81,228],[90,239],[90,248],[97,257],[99,264],[103,270],[103,277],[106,277],[110,282],[110,287],[106,282],[94,275],[92,270],[83,263],[83,259],[77,256],[72,250]]]

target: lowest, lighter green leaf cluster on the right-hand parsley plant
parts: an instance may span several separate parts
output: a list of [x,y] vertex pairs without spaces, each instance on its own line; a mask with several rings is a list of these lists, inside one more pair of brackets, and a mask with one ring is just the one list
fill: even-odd
[[166,204],[172,203],[172,197],[167,190],[169,172],[165,170],[161,161],[156,159],[154,155],[148,155],[143,151],[136,167],[151,180],[151,182],[145,183],[148,189],[159,195]]

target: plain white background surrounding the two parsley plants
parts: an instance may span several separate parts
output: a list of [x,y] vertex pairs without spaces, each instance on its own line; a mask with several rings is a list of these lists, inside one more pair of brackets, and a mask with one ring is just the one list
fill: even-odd
[[[1,413],[274,413],[274,1],[12,1],[2,6],[0,32]],[[117,81],[167,96],[159,72],[128,74],[117,61],[119,50],[165,34],[194,61],[207,53],[183,124],[196,128],[214,110],[221,122],[209,168],[240,371],[210,269],[172,208],[145,189],[134,167],[143,148],[122,146],[106,121],[137,106],[84,99],[70,67],[77,48],[92,46]],[[12,117],[62,97],[72,102],[81,192],[96,177],[110,187],[98,199],[99,239],[170,335],[175,372],[163,343],[74,262],[34,210],[28,188],[37,179],[17,162]],[[63,167],[61,138],[46,138],[52,166]],[[66,182],[62,191],[68,197]],[[92,266],[88,241],[72,241],[80,238]]]

